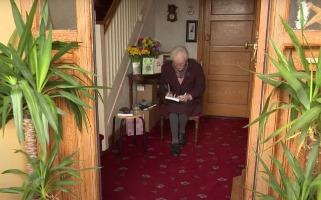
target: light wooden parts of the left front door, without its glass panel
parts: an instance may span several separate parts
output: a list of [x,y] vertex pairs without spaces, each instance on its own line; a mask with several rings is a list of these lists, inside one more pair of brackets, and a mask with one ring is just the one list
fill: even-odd
[[[26,11],[30,10],[34,0],[20,0],[20,7],[22,15],[26,18]],[[39,0],[41,4],[41,0]],[[94,72],[94,55],[93,55],[93,15],[92,15],[92,0],[76,0],[76,16],[77,16],[77,29],[76,30],[53,30],[53,40],[65,40],[65,41],[81,41],[81,47],[73,54],[67,55],[67,59],[77,60],[78,63],[82,63],[81,67],[87,71]],[[36,33],[38,27],[38,21],[40,18],[39,7],[35,15],[33,24],[33,33]],[[82,76],[82,74],[78,74]],[[93,79],[93,77],[91,77]],[[84,80],[86,80],[84,78]],[[87,80],[87,84],[91,84],[91,80]],[[86,103],[95,107],[92,100],[88,98],[83,99]],[[83,132],[80,132],[77,128],[76,121],[72,113],[69,113],[69,109],[63,102],[57,102],[64,111],[68,113],[68,116],[63,116],[64,124],[64,141],[61,142],[60,152],[64,156],[79,149],[75,155],[75,159],[83,160],[75,164],[75,167],[86,168],[98,166],[99,152],[98,152],[98,135],[96,131],[96,115],[95,110],[86,109],[88,123],[88,132],[84,128]],[[77,185],[70,186],[77,196],[82,199],[98,200],[100,196],[99,190],[99,171],[86,170],[80,172],[82,181]],[[59,199],[74,199],[69,193],[63,193],[58,196]]]

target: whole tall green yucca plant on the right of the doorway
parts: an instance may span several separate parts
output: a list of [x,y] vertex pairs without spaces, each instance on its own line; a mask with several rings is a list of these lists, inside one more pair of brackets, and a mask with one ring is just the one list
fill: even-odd
[[[265,83],[272,85],[273,89],[265,101],[260,116],[247,125],[250,126],[259,122],[258,136],[260,141],[262,140],[259,145],[261,145],[263,150],[264,143],[276,136],[278,136],[276,142],[288,139],[291,141],[293,141],[293,139],[298,139],[299,146],[297,153],[304,147],[305,156],[308,157],[308,159],[306,163],[299,163],[296,159],[296,155],[293,156],[286,145],[281,142],[289,163],[289,168],[293,172],[294,177],[290,177],[290,175],[287,174],[280,161],[270,156],[278,169],[282,184],[278,183],[277,178],[264,163],[264,160],[256,153],[265,169],[263,172],[269,176],[269,179],[262,177],[264,181],[280,196],[289,200],[321,199],[321,175],[319,174],[319,169],[315,168],[320,146],[319,124],[321,122],[321,94],[319,91],[321,84],[321,48],[319,49],[318,61],[316,61],[312,48],[304,36],[302,5],[300,6],[300,10],[301,40],[303,41],[303,44],[300,43],[293,29],[283,18],[281,18],[281,21],[292,40],[296,53],[299,55],[300,64],[304,70],[297,70],[297,66],[295,66],[293,62],[292,52],[290,52],[289,58],[287,59],[277,44],[271,40],[277,55],[277,60],[270,55],[267,56],[278,69],[278,72],[269,74],[256,73]],[[306,48],[311,52],[312,60],[306,59]],[[309,64],[308,61],[314,62],[315,65]],[[277,100],[270,102],[271,96],[276,89],[280,89],[290,94],[289,101]],[[265,128],[269,116],[282,109],[289,109],[289,122],[265,137]],[[281,135],[280,133],[283,131],[285,131],[285,134]],[[305,170],[303,170],[303,168],[305,168]],[[277,199],[271,195],[261,194],[258,191],[255,192],[261,199]]]

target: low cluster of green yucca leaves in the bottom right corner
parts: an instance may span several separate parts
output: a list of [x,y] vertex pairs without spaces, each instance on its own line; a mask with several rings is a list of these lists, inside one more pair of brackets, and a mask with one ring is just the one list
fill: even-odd
[[[319,138],[317,141],[319,142]],[[316,177],[313,176],[313,169],[318,156],[318,142],[314,143],[311,154],[306,162],[305,170],[302,169],[300,163],[293,156],[286,145],[281,142],[288,164],[293,172],[294,177],[291,178],[283,168],[282,163],[274,157],[270,156],[273,163],[277,166],[281,177],[281,183],[277,181],[274,174],[269,167],[264,163],[263,159],[256,153],[259,161],[263,165],[266,173],[270,178],[267,179],[262,176],[264,181],[276,191],[285,200],[313,200],[321,199],[321,174]],[[266,195],[257,192],[257,196],[263,200],[277,200],[275,196]]]

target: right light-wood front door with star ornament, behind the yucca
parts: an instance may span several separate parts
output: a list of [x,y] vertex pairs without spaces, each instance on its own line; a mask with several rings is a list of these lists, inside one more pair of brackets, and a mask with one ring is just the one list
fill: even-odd
[[[259,73],[273,73],[277,72],[275,66],[271,63],[269,59],[264,59],[266,53],[271,55],[274,59],[277,59],[275,51],[272,48],[270,40],[273,39],[281,51],[286,55],[288,58],[289,51],[293,51],[293,62],[297,70],[302,70],[302,66],[299,64],[299,57],[295,52],[295,48],[293,47],[292,41],[290,37],[286,33],[283,25],[281,23],[280,17],[285,19],[287,23],[290,24],[292,28],[295,29],[295,33],[298,39],[301,39],[300,30],[297,29],[297,17],[298,17],[298,4],[299,1],[296,0],[271,0],[270,4],[270,11],[271,15],[268,16],[269,13],[269,3],[268,0],[262,0],[262,4],[260,6],[260,28],[259,28],[259,41],[258,41],[258,52],[257,52],[257,66],[256,71]],[[318,49],[321,46],[321,38],[319,37],[321,33],[320,28],[320,21],[316,20],[317,16],[321,14],[321,3],[319,0],[311,0],[309,3],[304,4],[304,12],[310,13],[306,18],[306,23],[304,26],[304,35],[307,41],[312,44],[312,49],[314,51],[314,56],[318,56]],[[269,24],[266,24],[265,21],[268,21]],[[268,29],[269,27],[269,29]],[[269,38],[266,38],[266,35]],[[269,45],[265,43],[265,41],[269,42]],[[300,40],[302,43],[302,41]],[[306,42],[304,42],[306,45]],[[306,57],[310,57],[309,50],[306,49]],[[260,114],[260,101],[261,101],[261,92],[262,92],[262,81],[257,78],[256,76],[253,78],[253,96],[252,96],[252,103],[251,103],[251,113],[250,113],[250,120],[254,120]],[[271,92],[273,87],[269,85],[265,85],[264,87],[264,101],[266,100],[268,94]],[[270,102],[274,101],[282,101],[287,100],[288,93],[281,92],[277,90],[274,95],[271,97]],[[287,110],[278,111],[277,113],[270,115],[269,121],[267,122],[265,137],[269,136],[273,131],[284,125],[289,116],[289,112]],[[254,124],[249,127],[249,134],[248,134],[248,145],[247,145],[247,158],[246,158],[246,168],[245,168],[245,182],[242,185],[245,185],[246,188],[244,190],[244,195],[242,199],[252,199],[253,197],[253,190],[257,190],[258,192],[262,192],[265,194],[273,194],[276,197],[278,196],[273,189],[271,189],[266,182],[261,178],[264,176],[263,172],[264,168],[261,164],[257,163],[256,156],[253,153],[253,149],[257,148],[257,135],[258,135],[258,124]],[[279,137],[278,137],[279,138]],[[287,164],[287,161],[284,157],[283,149],[281,148],[280,144],[273,145],[274,142],[278,139],[274,138],[266,142],[265,150],[259,149],[259,153],[261,154],[264,162],[267,166],[269,166],[270,170],[276,176],[276,179],[280,181],[280,176],[277,172],[277,168],[275,165],[271,164],[271,159],[268,155],[272,155],[276,159],[278,159],[283,167],[290,171],[290,168]],[[297,146],[291,144],[289,140],[287,140],[287,145],[289,149],[291,149],[292,153],[296,153]],[[272,146],[271,148],[266,149],[267,147]],[[262,147],[262,146],[261,146]],[[266,176],[265,176],[266,177]],[[258,199],[255,198],[255,199]]]

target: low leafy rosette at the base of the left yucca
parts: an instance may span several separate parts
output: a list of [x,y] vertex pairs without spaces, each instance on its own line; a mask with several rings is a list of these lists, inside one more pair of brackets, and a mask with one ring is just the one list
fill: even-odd
[[82,178],[80,171],[96,169],[96,167],[78,169],[73,164],[80,160],[73,159],[78,152],[75,151],[67,157],[60,155],[60,163],[54,164],[54,160],[58,155],[58,145],[55,144],[49,157],[45,162],[39,158],[32,158],[23,150],[16,150],[15,153],[23,153],[27,157],[34,173],[28,174],[20,169],[8,169],[3,173],[13,173],[26,176],[26,179],[20,187],[1,188],[0,192],[23,194],[22,199],[58,199],[60,192],[71,193],[75,198],[79,199],[76,194],[71,191],[67,185],[78,184]]

